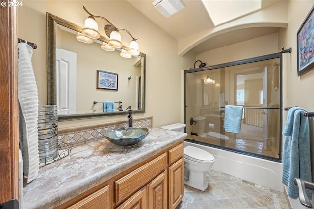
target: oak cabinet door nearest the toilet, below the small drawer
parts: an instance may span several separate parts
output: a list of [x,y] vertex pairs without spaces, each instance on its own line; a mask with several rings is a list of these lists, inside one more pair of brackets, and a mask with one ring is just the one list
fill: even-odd
[[184,160],[181,158],[168,169],[169,209],[175,209],[184,195]]

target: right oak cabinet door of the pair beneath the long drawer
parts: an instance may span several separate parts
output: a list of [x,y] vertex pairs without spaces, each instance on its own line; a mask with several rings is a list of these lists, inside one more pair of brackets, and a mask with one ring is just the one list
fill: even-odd
[[149,209],[167,209],[167,171],[147,185]]

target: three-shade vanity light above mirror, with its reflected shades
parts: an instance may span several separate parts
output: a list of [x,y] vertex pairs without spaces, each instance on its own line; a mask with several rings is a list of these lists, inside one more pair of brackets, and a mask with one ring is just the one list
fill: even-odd
[[[109,41],[108,41],[108,44],[106,44],[106,43],[102,44],[102,46],[101,46],[102,49],[104,49],[106,51],[114,51],[115,48],[121,48],[123,45],[121,42],[121,35],[120,35],[119,31],[123,30],[123,31],[126,31],[130,35],[130,37],[132,38],[132,41],[130,43],[129,50],[126,51],[126,50],[122,49],[120,55],[122,57],[126,57],[126,58],[130,58],[132,55],[133,56],[139,55],[140,52],[138,49],[138,44],[136,42],[136,40],[138,38],[135,39],[131,35],[131,33],[126,29],[115,27],[106,18],[101,17],[101,16],[92,15],[89,11],[87,11],[85,6],[83,6],[83,9],[89,15],[89,17],[85,20],[85,25],[84,25],[84,28],[82,30],[83,35],[87,36],[87,38],[90,38],[90,39],[98,39],[101,35],[98,31],[98,24],[97,24],[95,18],[104,19],[106,22],[109,23],[109,24],[106,24],[104,27],[105,34],[109,38]],[[78,39],[78,41],[83,40],[80,37],[79,38],[77,37],[77,39]],[[82,41],[82,42],[84,42],[84,41]],[[84,42],[84,43],[87,43],[87,42]]]

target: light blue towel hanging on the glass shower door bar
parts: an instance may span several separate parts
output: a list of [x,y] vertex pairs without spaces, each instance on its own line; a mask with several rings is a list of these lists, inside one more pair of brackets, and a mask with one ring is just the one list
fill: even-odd
[[227,132],[239,133],[242,122],[242,106],[226,105],[224,128]]

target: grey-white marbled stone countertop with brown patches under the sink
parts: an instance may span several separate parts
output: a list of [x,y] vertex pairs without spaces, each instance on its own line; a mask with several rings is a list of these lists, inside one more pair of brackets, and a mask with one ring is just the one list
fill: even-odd
[[53,209],[156,155],[187,136],[153,128],[132,147],[120,147],[105,138],[73,147],[69,156],[41,167],[24,186],[22,209]]

